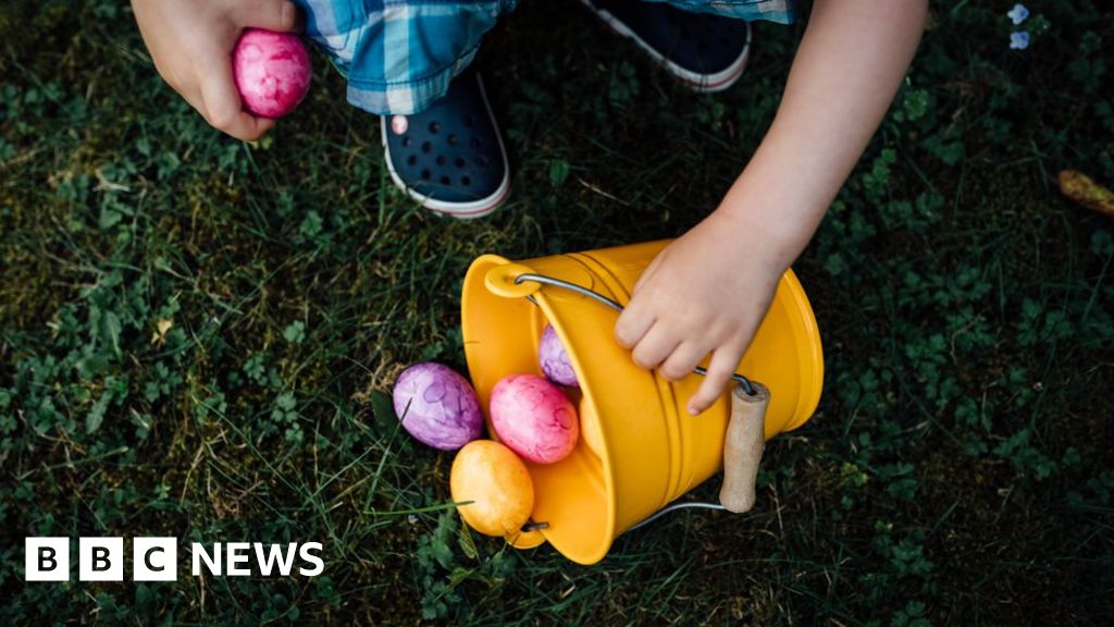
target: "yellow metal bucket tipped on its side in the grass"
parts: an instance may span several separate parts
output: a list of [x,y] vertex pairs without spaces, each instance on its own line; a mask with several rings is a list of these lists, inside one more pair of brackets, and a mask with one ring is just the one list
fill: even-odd
[[[560,462],[527,462],[535,493],[531,519],[547,527],[508,538],[515,547],[548,541],[573,561],[595,563],[620,533],[721,470],[731,412],[726,390],[706,412],[690,416],[685,404],[700,387],[698,375],[671,383],[638,368],[614,339],[616,311],[583,293],[519,280],[544,276],[625,306],[635,281],[668,243],[520,262],[485,254],[469,268],[461,297],[465,355],[491,437],[491,388],[507,375],[541,375],[538,338],[547,321],[576,370],[582,413],[598,421],[583,427],[596,428],[592,440],[598,443],[592,448],[582,437]],[[766,440],[812,416],[823,356],[817,320],[792,270],[782,277],[737,372],[770,389]]]

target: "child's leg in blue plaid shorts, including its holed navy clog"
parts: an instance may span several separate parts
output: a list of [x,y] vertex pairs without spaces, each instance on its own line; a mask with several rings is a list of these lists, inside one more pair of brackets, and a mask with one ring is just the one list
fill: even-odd
[[517,0],[295,0],[306,35],[348,79],[348,100],[384,116],[394,183],[428,209],[492,211],[509,189],[502,142],[477,73],[485,33]]

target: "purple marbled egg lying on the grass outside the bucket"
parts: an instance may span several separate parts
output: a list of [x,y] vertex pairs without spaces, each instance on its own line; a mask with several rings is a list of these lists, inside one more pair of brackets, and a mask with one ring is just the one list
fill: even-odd
[[455,451],[483,431],[472,386],[441,364],[423,361],[403,370],[394,382],[392,401],[402,427],[433,448]]

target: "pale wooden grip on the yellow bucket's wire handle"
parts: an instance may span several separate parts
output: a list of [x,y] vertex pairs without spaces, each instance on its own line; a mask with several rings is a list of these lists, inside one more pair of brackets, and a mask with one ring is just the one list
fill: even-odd
[[727,511],[742,513],[754,507],[754,482],[765,446],[765,412],[770,390],[758,382],[754,396],[736,385],[731,393],[731,422],[723,442],[723,488],[720,503]]

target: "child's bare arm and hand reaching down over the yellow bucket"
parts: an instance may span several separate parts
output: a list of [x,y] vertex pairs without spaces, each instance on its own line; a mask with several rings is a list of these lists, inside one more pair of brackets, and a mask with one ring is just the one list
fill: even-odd
[[878,128],[925,26],[927,0],[815,0],[778,115],[719,209],[673,242],[615,327],[636,364],[678,379],[712,354],[688,401],[723,392],[782,273]]

